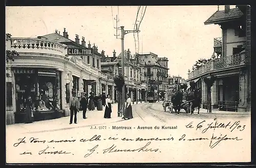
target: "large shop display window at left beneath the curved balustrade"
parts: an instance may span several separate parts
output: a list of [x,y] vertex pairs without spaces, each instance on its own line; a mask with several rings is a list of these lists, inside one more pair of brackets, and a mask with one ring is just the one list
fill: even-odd
[[61,109],[60,74],[55,70],[16,69],[16,110],[24,111],[26,99],[31,96],[36,110]]

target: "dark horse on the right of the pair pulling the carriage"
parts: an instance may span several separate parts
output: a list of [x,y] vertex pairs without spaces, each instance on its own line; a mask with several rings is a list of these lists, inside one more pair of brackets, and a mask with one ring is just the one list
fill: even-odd
[[188,103],[188,111],[191,114],[194,114],[194,110],[197,107],[198,108],[198,113],[199,115],[199,110],[200,110],[200,104],[201,104],[201,92],[200,89],[195,88],[192,91],[189,91],[186,95],[186,99],[190,101]]

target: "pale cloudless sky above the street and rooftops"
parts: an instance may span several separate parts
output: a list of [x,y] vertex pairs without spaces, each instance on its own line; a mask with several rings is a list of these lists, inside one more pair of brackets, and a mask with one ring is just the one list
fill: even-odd
[[[235,8],[235,6],[230,6]],[[143,9],[143,11],[142,11]],[[187,71],[198,59],[210,58],[214,51],[214,38],[221,37],[219,25],[204,25],[218,6],[141,6],[138,13],[140,32],[124,36],[124,49],[135,52],[153,52],[168,58],[168,74],[187,79]],[[224,10],[224,6],[220,6]],[[12,37],[35,38],[54,33],[63,34],[75,41],[79,35],[86,44],[98,46],[98,52],[112,57],[113,50],[121,52],[121,39],[114,27],[124,26],[133,31],[138,6],[45,6],[6,7],[6,33]],[[116,26],[114,17],[118,15]],[[118,33],[120,35],[120,30]],[[138,40],[139,36],[139,40]],[[136,39],[136,42],[135,42]],[[135,47],[136,44],[136,47]]]

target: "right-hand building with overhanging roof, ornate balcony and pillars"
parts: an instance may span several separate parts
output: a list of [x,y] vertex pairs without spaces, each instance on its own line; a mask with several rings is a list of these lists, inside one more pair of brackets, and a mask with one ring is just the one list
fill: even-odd
[[211,59],[188,71],[187,82],[194,80],[202,91],[202,106],[207,104],[205,76],[215,75],[211,87],[212,107],[221,110],[250,111],[250,7],[219,9],[204,24],[219,24],[222,37],[214,39]]

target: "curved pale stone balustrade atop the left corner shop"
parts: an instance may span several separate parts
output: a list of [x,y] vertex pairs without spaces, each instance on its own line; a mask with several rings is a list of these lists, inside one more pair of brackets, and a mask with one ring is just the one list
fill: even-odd
[[45,53],[65,56],[66,46],[57,42],[34,39],[34,38],[11,38],[8,39],[11,50],[28,53]]

